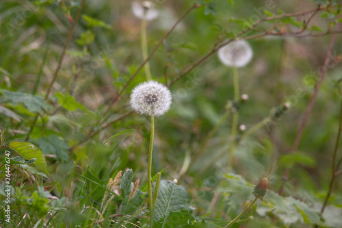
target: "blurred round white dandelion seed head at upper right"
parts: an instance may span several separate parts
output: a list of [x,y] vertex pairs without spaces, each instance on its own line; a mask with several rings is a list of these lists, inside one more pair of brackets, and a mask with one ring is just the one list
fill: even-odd
[[253,51],[245,40],[230,42],[218,50],[218,58],[226,66],[242,67],[252,60]]

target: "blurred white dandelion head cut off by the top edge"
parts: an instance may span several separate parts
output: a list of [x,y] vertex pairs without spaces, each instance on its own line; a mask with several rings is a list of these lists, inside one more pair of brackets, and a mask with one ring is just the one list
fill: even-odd
[[134,16],[140,19],[145,19],[146,21],[152,21],[158,16],[158,12],[155,9],[155,5],[150,1],[133,2],[132,11]]

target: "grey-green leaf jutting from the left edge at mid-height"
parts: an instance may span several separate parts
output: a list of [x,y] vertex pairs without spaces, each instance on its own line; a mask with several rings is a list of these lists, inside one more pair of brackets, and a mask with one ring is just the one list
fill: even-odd
[[10,103],[12,105],[23,104],[29,112],[42,112],[43,110],[47,110],[47,103],[42,97],[24,92],[0,90],[0,103]]

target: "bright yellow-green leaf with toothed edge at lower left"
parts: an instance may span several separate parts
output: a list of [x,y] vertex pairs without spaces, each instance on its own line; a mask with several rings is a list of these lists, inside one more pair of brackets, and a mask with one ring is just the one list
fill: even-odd
[[34,163],[34,165],[43,172],[49,174],[49,172],[47,171],[47,161],[45,160],[42,151],[40,151],[40,149],[34,144],[31,144],[29,142],[10,142],[9,146],[12,147],[12,149],[14,149],[14,151],[16,151],[18,154],[25,157],[27,160],[36,158],[36,162]]

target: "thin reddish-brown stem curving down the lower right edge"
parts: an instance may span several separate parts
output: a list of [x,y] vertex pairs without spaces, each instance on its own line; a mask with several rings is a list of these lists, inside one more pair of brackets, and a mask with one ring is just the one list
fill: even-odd
[[331,180],[329,185],[328,193],[326,194],[326,199],[324,200],[324,203],[321,207],[321,214],[323,214],[324,209],[326,208],[326,205],[328,203],[330,194],[332,192],[332,187],[334,186],[334,180],[335,177],[337,177],[336,173],[339,167],[336,165],[336,155],[337,155],[337,149],[339,148],[339,141],[341,138],[341,131],[342,131],[342,100],[341,100],[341,107],[340,107],[340,121],[339,121],[339,131],[337,133],[337,140],[334,147],[334,153],[332,153],[332,167],[331,167]]

